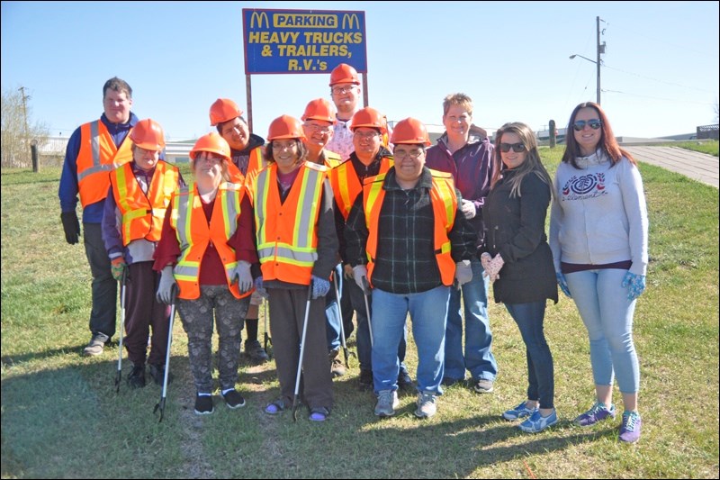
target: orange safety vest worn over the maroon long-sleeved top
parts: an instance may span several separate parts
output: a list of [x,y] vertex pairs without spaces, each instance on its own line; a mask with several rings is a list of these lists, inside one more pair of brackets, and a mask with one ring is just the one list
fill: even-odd
[[177,295],[185,300],[200,297],[200,268],[202,256],[210,243],[218,250],[222,265],[225,267],[225,278],[230,293],[235,298],[242,298],[252,293],[240,294],[237,283],[232,283],[232,274],[238,265],[235,249],[228,245],[228,240],[238,228],[240,202],[245,195],[245,187],[231,183],[221,183],[212,206],[212,216],[208,224],[202,211],[202,200],[197,185],[191,191],[184,186],[175,190],[170,201],[172,213],[170,223],[175,229],[180,242],[180,258],[173,270],[180,293]]

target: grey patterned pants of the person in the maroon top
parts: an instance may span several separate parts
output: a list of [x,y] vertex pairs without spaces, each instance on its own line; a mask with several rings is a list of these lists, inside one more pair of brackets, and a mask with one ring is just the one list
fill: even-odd
[[177,312],[187,334],[187,353],[198,392],[210,394],[212,385],[212,327],[218,326],[220,388],[234,388],[238,381],[240,331],[250,297],[235,298],[228,285],[201,285],[200,297],[177,299]]

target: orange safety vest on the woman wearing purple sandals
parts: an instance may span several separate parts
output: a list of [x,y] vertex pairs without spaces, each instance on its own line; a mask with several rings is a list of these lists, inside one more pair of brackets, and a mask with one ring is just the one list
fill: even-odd
[[277,165],[271,163],[255,180],[257,256],[264,280],[310,285],[318,259],[315,225],[320,216],[322,183],[328,169],[304,162],[284,203],[277,188]]

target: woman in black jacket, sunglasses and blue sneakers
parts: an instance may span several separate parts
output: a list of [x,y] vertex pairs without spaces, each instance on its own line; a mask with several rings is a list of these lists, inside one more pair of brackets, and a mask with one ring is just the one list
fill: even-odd
[[487,234],[481,260],[495,302],[505,303],[518,323],[529,383],[527,400],[502,416],[528,417],[520,430],[538,432],[557,423],[553,355],[543,331],[546,299],[557,303],[553,254],[545,235],[552,180],[525,123],[506,123],[496,132],[493,162],[491,192],[482,208]]

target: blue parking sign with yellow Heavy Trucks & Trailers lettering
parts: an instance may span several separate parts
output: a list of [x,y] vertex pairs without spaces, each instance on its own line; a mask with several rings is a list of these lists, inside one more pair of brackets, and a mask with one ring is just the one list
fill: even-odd
[[365,12],[243,8],[245,73],[367,73]]

